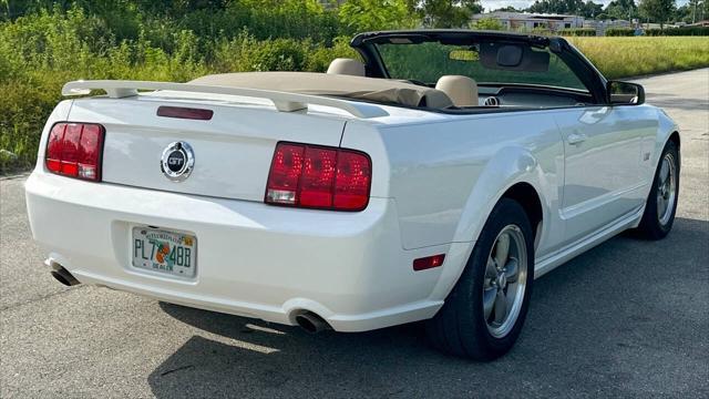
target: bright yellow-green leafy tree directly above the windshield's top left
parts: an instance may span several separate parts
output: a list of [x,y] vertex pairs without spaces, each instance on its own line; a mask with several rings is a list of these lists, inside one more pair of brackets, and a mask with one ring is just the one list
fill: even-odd
[[339,8],[340,22],[353,31],[413,28],[415,16],[404,0],[349,0]]

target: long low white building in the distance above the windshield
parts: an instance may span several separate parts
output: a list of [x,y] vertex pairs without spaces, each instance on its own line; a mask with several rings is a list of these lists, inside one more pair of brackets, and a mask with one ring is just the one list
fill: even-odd
[[481,19],[496,19],[507,30],[531,31],[545,29],[553,32],[562,29],[583,28],[584,17],[565,14],[545,14],[528,12],[493,11],[473,16],[473,22]]

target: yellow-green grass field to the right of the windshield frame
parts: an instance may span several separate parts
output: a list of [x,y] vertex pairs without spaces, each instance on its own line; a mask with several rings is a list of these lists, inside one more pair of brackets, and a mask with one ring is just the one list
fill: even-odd
[[567,38],[608,79],[709,66],[709,37]]

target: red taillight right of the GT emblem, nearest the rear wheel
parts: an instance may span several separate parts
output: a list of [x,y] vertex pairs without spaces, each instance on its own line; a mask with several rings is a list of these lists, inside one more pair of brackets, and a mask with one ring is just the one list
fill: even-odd
[[369,203],[372,164],[362,152],[278,143],[266,185],[267,204],[362,211]]

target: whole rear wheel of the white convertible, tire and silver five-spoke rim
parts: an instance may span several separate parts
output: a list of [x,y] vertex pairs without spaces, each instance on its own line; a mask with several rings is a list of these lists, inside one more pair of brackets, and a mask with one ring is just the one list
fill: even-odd
[[524,208],[503,198],[494,207],[465,270],[428,321],[433,345],[448,354],[492,360],[514,345],[534,280],[534,237]]

